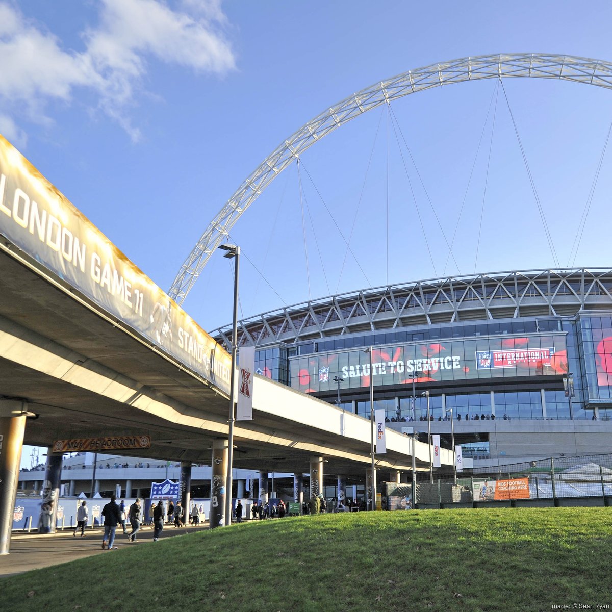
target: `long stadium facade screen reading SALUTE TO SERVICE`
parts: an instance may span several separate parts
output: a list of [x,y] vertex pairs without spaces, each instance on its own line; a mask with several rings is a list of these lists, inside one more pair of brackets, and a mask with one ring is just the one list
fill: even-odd
[[[289,359],[291,387],[306,393],[370,386],[370,356],[364,348]],[[567,373],[564,333],[484,336],[466,340],[374,346],[374,386],[554,376]],[[347,384],[348,383],[348,384]]]

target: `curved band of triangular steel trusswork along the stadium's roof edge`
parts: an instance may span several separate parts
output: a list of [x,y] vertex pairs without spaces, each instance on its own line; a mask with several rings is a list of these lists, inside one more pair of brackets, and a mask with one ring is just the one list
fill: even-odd
[[[496,272],[363,289],[262,313],[240,321],[238,345],[594,310],[612,310],[610,268]],[[230,346],[231,326],[211,335]]]

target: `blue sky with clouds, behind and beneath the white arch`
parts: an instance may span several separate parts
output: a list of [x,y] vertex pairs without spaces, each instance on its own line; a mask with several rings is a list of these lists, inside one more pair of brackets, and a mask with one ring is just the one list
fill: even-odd
[[[0,132],[168,289],[243,179],[329,106],[390,76],[465,56],[612,61],[611,18],[609,2],[589,1],[0,0]],[[612,121],[612,92],[524,79],[504,88],[567,266]],[[266,278],[242,259],[241,316],[387,282],[554,266],[497,83],[436,88],[392,110],[425,185],[409,168],[417,204],[388,110],[337,130],[302,157],[309,278],[295,166],[231,232]],[[577,266],[610,264],[611,155]],[[466,190],[458,267],[445,265],[428,199],[450,239]],[[343,268],[343,239],[317,192],[347,238],[359,211],[351,241],[359,266],[349,256]],[[204,329],[231,319],[230,273],[214,255],[184,303]]]

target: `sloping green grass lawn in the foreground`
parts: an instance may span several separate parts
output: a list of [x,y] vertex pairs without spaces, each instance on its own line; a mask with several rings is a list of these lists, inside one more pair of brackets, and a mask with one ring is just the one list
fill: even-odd
[[0,580],[0,610],[522,612],[612,605],[611,512],[422,510],[242,523],[100,550]]

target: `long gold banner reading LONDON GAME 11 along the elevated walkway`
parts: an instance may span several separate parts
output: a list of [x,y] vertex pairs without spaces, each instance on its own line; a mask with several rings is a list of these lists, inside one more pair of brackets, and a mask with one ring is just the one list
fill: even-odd
[[0,234],[110,315],[229,392],[228,353],[2,136]]

